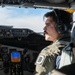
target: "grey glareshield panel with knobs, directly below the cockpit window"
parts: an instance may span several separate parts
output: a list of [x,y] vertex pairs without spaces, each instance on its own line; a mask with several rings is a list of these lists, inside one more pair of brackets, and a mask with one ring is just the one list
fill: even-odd
[[30,29],[0,26],[0,38],[27,37],[32,33],[34,32]]

